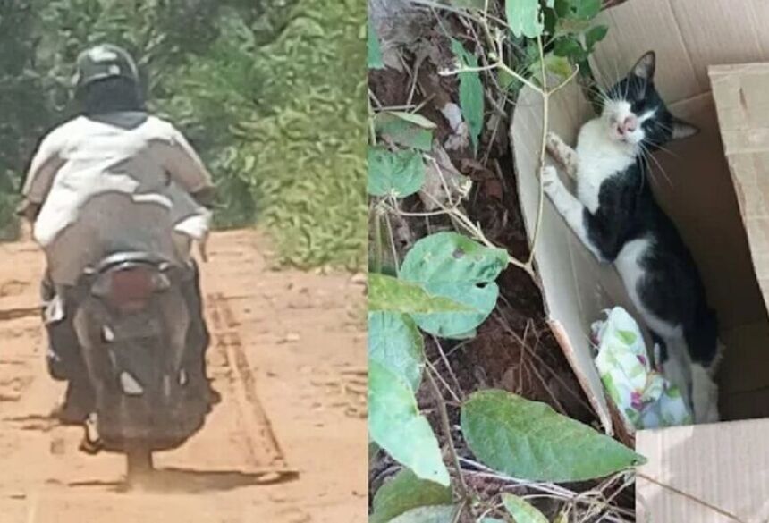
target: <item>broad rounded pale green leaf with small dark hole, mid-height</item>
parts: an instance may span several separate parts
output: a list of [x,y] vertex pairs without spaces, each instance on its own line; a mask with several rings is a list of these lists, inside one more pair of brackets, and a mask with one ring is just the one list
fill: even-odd
[[401,266],[403,280],[469,310],[413,315],[419,327],[443,337],[460,336],[480,325],[496,305],[494,280],[509,262],[507,251],[490,249],[456,232],[431,234],[414,244]]

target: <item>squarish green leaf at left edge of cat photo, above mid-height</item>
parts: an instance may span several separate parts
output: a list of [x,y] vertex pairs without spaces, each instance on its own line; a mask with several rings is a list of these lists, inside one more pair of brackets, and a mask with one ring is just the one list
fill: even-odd
[[421,189],[424,182],[425,164],[417,151],[368,148],[368,194],[403,198]]

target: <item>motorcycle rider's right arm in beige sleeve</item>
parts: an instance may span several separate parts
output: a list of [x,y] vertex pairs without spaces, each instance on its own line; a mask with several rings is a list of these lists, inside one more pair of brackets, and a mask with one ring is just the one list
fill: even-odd
[[214,202],[215,186],[211,174],[181,132],[173,133],[170,147],[164,155],[165,170],[202,206]]

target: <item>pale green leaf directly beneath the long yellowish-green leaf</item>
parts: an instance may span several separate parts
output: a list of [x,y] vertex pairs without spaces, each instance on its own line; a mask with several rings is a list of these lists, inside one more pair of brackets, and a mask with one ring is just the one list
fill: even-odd
[[425,342],[410,316],[368,313],[368,359],[377,361],[410,384],[415,393],[422,381]]

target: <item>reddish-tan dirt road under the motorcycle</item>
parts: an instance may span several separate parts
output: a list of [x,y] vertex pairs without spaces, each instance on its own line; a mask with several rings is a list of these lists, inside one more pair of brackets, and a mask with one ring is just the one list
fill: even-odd
[[350,276],[271,271],[255,232],[215,234],[203,268],[209,373],[223,401],[159,485],[127,491],[121,455],[78,451],[47,414],[29,241],[0,245],[0,522],[362,523],[367,519],[363,289]]

